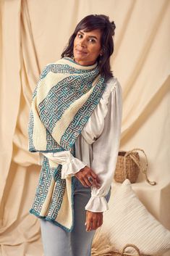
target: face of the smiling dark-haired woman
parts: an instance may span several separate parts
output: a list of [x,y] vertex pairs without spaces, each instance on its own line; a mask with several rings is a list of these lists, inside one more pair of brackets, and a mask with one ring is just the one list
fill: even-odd
[[93,65],[101,53],[101,30],[78,31],[73,48],[75,62],[83,66]]

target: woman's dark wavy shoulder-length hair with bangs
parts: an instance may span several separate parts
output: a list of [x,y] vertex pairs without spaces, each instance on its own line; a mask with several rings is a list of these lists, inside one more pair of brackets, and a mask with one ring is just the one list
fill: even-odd
[[88,15],[84,17],[76,26],[74,33],[69,38],[67,47],[61,54],[61,57],[74,57],[73,46],[74,40],[78,31],[84,30],[89,32],[95,29],[101,30],[101,49],[103,50],[102,56],[98,56],[98,70],[106,80],[113,77],[110,67],[110,57],[114,52],[114,30],[116,25],[114,21],[110,22],[109,17],[106,15]]

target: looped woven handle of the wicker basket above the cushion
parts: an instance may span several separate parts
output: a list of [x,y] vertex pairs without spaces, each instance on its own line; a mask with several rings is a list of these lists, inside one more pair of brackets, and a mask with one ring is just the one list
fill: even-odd
[[[135,157],[135,154],[133,154],[134,151],[143,152],[143,154],[145,155],[145,168],[140,164],[140,160],[138,160],[137,157]],[[126,170],[126,157],[128,155],[129,155],[129,157],[132,158],[132,160],[135,162],[135,164],[138,166],[138,168],[142,171],[142,173],[145,174],[146,181],[152,186],[156,185],[156,181],[149,181],[149,179],[148,179],[148,176],[147,176],[147,173],[146,173],[147,168],[148,168],[148,158],[147,158],[144,150],[143,149],[132,149],[132,150],[126,152],[126,154],[124,155],[124,170]]]

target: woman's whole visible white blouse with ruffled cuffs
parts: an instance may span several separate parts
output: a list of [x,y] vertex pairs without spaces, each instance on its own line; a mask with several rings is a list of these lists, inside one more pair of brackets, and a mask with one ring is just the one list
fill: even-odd
[[101,181],[99,189],[91,186],[91,197],[85,210],[104,212],[109,209],[108,194],[116,168],[122,124],[122,87],[116,78],[110,78],[95,110],[82,133],[75,141],[75,157],[69,151],[40,153],[60,165],[61,178],[74,176],[88,165]]

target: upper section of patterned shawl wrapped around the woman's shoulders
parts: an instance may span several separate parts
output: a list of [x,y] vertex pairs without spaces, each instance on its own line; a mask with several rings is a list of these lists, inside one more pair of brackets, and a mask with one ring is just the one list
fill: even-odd
[[[33,92],[28,123],[30,152],[70,150],[101,99],[105,86],[96,64],[89,68],[75,64],[71,58],[63,58],[47,65]],[[73,107],[75,112],[70,115]],[[36,124],[35,116],[39,118]],[[67,125],[66,120],[69,120]],[[43,125],[41,139],[46,139],[43,146],[40,146],[42,141],[38,144],[42,132],[38,127],[40,123]]]

